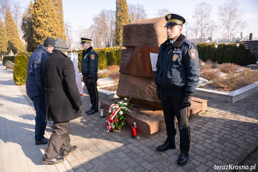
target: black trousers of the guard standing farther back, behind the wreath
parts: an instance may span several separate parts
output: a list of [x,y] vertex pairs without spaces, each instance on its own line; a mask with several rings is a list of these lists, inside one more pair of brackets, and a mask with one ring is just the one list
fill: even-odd
[[89,79],[90,79],[89,76],[87,76],[87,75],[83,76],[83,82],[86,85],[86,88],[88,90],[88,93],[89,93],[90,99],[91,99],[91,105],[92,105],[91,109],[98,110],[98,107],[99,107],[99,95],[98,95],[98,89],[97,89],[98,74],[96,74],[94,77],[93,85],[89,84]]

